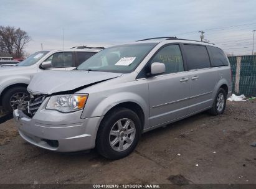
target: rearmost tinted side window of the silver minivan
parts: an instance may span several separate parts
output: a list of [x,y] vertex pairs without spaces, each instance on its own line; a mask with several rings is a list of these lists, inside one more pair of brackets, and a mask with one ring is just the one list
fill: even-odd
[[229,62],[227,62],[227,58],[225,57],[223,50],[212,46],[208,46],[207,48],[211,52],[212,67],[222,67],[229,65]]

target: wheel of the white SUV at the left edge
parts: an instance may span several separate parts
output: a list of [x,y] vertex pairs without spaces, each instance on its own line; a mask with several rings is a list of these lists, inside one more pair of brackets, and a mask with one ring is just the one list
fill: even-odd
[[[26,106],[30,99],[27,88],[24,86],[16,86],[8,89],[2,96],[2,107],[5,112],[17,109],[17,106]],[[16,103],[15,103],[16,101]]]

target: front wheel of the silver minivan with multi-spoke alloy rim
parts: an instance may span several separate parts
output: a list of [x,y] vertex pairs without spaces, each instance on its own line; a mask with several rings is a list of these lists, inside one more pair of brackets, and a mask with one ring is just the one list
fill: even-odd
[[98,129],[96,148],[107,159],[121,159],[131,154],[141,136],[138,115],[127,108],[110,111]]

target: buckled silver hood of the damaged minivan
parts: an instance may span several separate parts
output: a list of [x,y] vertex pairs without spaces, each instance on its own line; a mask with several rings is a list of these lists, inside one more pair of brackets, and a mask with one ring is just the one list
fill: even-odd
[[34,75],[27,88],[32,93],[52,94],[76,90],[121,75],[102,71],[44,71]]

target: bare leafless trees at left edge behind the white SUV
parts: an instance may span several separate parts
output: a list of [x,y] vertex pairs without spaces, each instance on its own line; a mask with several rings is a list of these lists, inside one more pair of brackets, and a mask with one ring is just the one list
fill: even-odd
[[31,41],[27,32],[11,26],[0,26],[0,50],[9,52],[14,57],[24,55],[25,45]]

